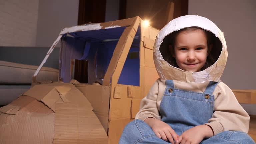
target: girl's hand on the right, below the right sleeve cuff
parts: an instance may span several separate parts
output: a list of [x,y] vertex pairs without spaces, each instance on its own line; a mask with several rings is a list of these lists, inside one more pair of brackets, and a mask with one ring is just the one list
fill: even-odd
[[212,128],[208,125],[195,126],[179,137],[180,144],[199,144],[204,138],[212,137]]

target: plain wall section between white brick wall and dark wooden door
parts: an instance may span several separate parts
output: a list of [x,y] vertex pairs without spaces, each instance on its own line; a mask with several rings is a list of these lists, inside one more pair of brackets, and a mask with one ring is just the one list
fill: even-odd
[[79,0],[39,0],[36,46],[50,47],[64,27],[76,26]]

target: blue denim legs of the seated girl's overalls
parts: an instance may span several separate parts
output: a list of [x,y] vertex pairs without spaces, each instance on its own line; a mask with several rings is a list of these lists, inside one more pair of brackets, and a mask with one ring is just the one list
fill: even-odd
[[[158,138],[148,124],[141,120],[134,120],[126,125],[119,144],[169,144]],[[253,139],[244,132],[224,131],[200,144],[255,144]]]

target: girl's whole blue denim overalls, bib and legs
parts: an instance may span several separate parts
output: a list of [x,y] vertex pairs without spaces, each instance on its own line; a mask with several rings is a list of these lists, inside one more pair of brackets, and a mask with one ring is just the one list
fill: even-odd
[[[210,82],[204,93],[174,88],[173,80],[166,80],[166,89],[160,104],[161,120],[178,134],[208,123],[214,109],[214,95],[218,82]],[[123,130],[119,144],[168,144],[156,137],[153,130],[143,121],[134,120]],[[255,144],[244,132],[224,131],[201,144]]]

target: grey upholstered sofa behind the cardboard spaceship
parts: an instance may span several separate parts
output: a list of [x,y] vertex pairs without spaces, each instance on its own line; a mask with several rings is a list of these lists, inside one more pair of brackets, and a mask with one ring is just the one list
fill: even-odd
[[[31,87],[32,75],[47,47],[0,47],[0,106],[7,105]],[[55,48],[37,75],[38,81],[58,81],[59,48]]]

